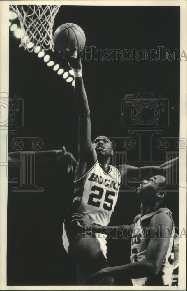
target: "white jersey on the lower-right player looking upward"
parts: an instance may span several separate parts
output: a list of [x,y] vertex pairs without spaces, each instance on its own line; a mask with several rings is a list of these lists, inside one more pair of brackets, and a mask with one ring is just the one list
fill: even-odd
[[[135,222],[133,228],[132,242],[131,242],[131,262],[139,262],[145,258],[147,244],[149,239],[145,237],[145,233],[142,229],[142,223],[145,219],[152,218],[156,213],[165,212],[172,219],[171,212],[167,208],[159,208],[158,210],[145,214]],[[173,221],[173,220],[172,220]],[[173,260],[174,260],[174,222],[172,229],[172,236],[170,238],[169,247],[165,259],[162,262],[160,271],[155,277],[138,278],[132,279],[133,285],[144,286],[144,285],[159,285],[159,282],[163,285],[171,285],[172,283],[172,272],[173,272]]]

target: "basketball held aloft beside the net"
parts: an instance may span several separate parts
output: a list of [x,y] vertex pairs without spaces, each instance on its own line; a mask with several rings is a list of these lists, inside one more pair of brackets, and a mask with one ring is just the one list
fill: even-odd
[[53,36],[56,50],[62,54],[69,49],[73,53],[74,47],[77,47],[77,54],[82,50],[86,42],[84,31],[80,26],[74,23],[65,23],[57,28]]

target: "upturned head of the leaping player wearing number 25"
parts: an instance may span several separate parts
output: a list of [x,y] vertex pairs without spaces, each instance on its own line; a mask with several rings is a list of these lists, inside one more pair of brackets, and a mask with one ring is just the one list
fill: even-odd
[[112,142],[106,136],[98,136],[93,141],[98,156],[110,157],[113,155]]

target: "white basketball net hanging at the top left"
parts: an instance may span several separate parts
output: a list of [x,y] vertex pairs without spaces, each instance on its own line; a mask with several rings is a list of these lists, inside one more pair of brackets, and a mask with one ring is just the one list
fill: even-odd
[[33,52],[35,47],[40,46],[39,51],[52,49],[54,42],[52,27],[54,17],[60,5],[10,5],[20,21],[22,30],[21,44],[19,47]]

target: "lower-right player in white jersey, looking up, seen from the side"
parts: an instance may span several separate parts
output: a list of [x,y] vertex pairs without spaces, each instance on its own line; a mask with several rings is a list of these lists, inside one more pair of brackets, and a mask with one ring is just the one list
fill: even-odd
[[[174,260],[174,221],[169,209],[162,208],[165,192],[159,191],[165,183],[162,176],[151,177],[137,188],[141,202],[141,214],[137,215],[130,226],[112,226],[117,228],[122,237],[132,237],[130,264],[104,268],[93,274],[87,285],[98,285],[103,278],[131,278],[137,286],[170,286],[172,283]],[[105,227],[93,225],[82,214],[74,214],[72,223],[83,223],[84,230],[96,233],[112,233]],[[126,232],[126,233],[125,233]]]

